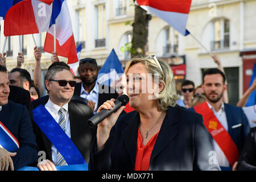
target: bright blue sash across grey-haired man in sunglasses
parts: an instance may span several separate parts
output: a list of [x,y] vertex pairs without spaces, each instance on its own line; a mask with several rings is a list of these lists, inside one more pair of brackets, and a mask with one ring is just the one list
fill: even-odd
[[86,164],[80,151],[67,134],[61,129],[46,107],[39,105],[33,110],[33,119],[46,137],[57,148],[68,165]]

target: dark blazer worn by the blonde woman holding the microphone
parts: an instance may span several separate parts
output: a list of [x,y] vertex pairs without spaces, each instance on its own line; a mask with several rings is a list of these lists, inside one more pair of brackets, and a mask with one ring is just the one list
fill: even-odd
[[[110,131],[101,151],[94,140],[90,155],[90,170],[134,170],[139,127],[139,113],[121,115]],[[209,164],[209,152],[214,151],[200,114],[170,107],[156,139],[149,170],[220,170]]]

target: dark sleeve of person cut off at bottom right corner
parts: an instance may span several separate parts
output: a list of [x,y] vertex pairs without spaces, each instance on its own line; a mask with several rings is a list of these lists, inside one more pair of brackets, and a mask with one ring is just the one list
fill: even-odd
[[238,171],[256,171],[256,127],[251,128],[238,160]]

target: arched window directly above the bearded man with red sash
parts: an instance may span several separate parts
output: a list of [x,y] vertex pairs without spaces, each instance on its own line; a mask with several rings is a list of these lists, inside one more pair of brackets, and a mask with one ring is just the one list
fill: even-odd
[[213,22],[213,40],[210,47],[213,50],[229,49],[230,22],[228,19],[217,19]]

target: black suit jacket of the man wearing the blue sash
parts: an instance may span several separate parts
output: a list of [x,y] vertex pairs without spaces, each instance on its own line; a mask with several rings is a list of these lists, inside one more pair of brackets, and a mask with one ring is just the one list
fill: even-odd
[[[48,98],[49,96],[44,96],[38,100],[32,101],[34,108],[41,104],[45,105]],[[81,152],[86,163],[88,163],[91,144],[93,138],[96,136],[96,129],[91,129],[87,123],[87,120],[93,116],[93,111],[88,105],[70,101],[68,103],[68,113],[71,128],[71,140]],[[47,159],[52,160],[52,143],[35,122],[33,122],[33,126],[39,150],[46,151]]]

